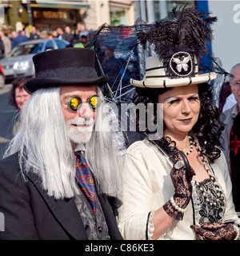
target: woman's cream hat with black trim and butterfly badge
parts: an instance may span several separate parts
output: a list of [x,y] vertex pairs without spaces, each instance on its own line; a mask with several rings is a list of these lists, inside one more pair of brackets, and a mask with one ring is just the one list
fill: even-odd
[[217,77],[214,72],[198,74],[198,65],[194,63],[197,63],[196,58],[192,59],[186,52],[174,54],[169,65],[175,75],[170,78],[158,56],[148,57],[144,78],[140,81],[131,78],[130,84],[137,87],[166,88],[210,82]]

